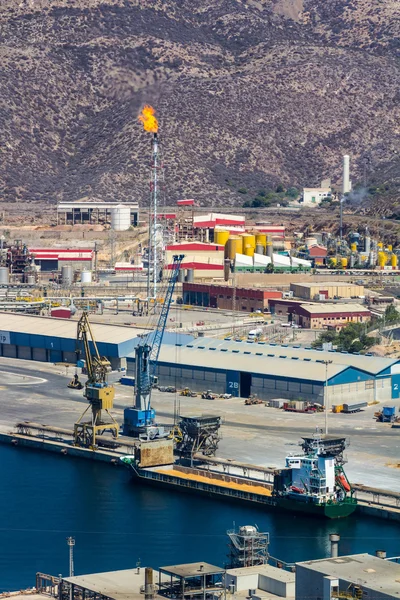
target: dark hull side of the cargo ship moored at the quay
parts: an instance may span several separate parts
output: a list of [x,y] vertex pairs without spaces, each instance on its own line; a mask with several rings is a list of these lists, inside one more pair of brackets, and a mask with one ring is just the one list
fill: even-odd
[[168,489],[179,490],[179,492],[203,495],[223,500],[233,500],[240,502],[251,502],[258,506],[264,506],[267,509],[279,510],[281,512],[291,512],[298,514],[308,514],[313,517],[341,519],[351,515],[357,507],[356,501],[338,502],[335,504],[315,504],[314,502],[297,501],[294,498],[285,496],[260,496],[253,493],[235,493],[235,490],[219,487],[218,485],[199,485],[195,481],[182,481],[177,477],[169,475],[155,474],[152,471],[136,468],[130,465],[130,471],[133,479],[147,485],[164,487]]

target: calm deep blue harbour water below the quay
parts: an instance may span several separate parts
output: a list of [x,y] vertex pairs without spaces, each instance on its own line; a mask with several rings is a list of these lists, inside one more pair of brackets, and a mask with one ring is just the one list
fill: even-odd
[[197,560],[224,565],[226,529],[257,523],[286,561],[322,558],[328,535],[340,552],[400,554],[400,526],[375,519],[313,520],[139,486],[129,472],[0,446],[0,592],[34,585],[36,571],[68,573],[66,537],[76,538],[76,574]]

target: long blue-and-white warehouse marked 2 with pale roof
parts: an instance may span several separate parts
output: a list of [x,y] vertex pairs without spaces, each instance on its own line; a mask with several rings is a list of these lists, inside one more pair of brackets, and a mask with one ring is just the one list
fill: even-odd
[[[128,370],[133,369],[128,357]],[[399,397],[400,361],[293,346],[198,338],[163,347],[162,385],[210,389],[260,399],[308,400],[329,405],[385,402]]]

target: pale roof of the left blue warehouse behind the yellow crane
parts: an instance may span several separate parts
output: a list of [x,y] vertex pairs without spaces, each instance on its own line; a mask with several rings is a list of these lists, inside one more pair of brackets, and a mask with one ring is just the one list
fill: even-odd
[[[91,323],[96,342],[119,344],[137,338],[143,329],[121,325]],[[46,335],[67,339],[76,338],[77,322],[70,319],[33,317],[0,312],[0,330],[31,335]]]

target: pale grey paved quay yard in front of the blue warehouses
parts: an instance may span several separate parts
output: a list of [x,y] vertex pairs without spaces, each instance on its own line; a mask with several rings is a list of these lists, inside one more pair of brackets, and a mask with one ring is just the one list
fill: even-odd
[[[21,420],[72,428],[86,406],[82,391],[67,388],[73,374],[73,368],[63,365],[0,358],[0,428],[10,429]],[[118,377],[113,374],[112,378]],[[179,414],[212,413],[223,417],[220,457],[266,467],[283,466],[285,456],[300,450],[302,435],[324,428],[323,414],[245,406],[237,398],[207,401],[154,392],[153,406],[160,421],[172,420],[175,403],[180,405]],[[114,416],[119,422],[123,409],[132,404],[132,388],[116,384]],[[399,406],[400,402],[396,404]],[[352,481],[400,492],[400,430],[376,423],[375,410],[376,407],[369,407],[354,415],[330,414],[329,431],[350,440],[346,471]]]

